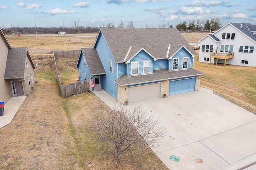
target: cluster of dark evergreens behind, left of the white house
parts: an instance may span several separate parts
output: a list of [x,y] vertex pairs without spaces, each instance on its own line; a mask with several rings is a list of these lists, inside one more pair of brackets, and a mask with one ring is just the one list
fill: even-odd
[[190,21],[188,24],[186,21],[177,24],[176,28],[180,30],[180,32],[199,32],[199,31],[206,31],[212,32],[217,30],[221,27],[220,18],[212,18],[211,20],[200,21]]

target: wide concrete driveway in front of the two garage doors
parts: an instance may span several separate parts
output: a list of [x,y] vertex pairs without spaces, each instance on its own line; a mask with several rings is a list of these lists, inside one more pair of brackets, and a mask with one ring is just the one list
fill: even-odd
[[256,169],[253,113],[202,87],[139,103],[156,113],[160,125],[166,128],[162,145],[152,150],[169,169]]

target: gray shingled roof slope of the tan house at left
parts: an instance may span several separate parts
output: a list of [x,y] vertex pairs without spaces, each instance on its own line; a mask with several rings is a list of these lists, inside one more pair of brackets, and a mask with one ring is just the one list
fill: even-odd
[[24,78],[26,54],[26,47],[11,48],[8,50],[4,79]]

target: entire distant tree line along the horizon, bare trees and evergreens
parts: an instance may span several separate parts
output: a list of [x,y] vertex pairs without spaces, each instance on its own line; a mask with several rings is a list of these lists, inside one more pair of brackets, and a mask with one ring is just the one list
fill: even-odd
[[[116,27],[114,22],[108,22],[106,25],[102,25],[100,27],[84,27],[79,26],[79,19],[74,20],[74,26],[71,27],[15,27],[13,25],[10,28],[4,28],[2,26],[2,31],[4,34],[58,34],[58,32],[65,31],[66,34],[81,34],[81,33],[97,33],[100,28],[125,28],[124,20]],[[212,32],[218,28],[220,28],[220,19],[212,18],[211,20],[200,21],[190,21],[188,24],[186,21],[177,24],[176,28],[180,30],[180,32]],[[158,26],[154,26],[153,24],[150,26],[148,24],[145,25],[145,28],[166,28],[166,24],[158,24]],[[126,28],[135,28],[134,23],[129,21],[126,25]],[[172,25],[168,25],[168,28],[173,28]]]

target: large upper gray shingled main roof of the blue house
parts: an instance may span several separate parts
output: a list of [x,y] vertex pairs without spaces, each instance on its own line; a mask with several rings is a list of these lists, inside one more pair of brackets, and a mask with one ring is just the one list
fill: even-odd
[[142,47],[156,59],[165,58],[169,44],[171,47],[168,58],[180,49],[182,45],[184,45],[190,53],[197,55],[176,28],[103,28],[100,32],[102,32],[106,42],[108,43],[108,47],[110,48],[116,62],[124,61],[130,46],[132,46],[132,48],[126,58],[126,61],[134,56]]

